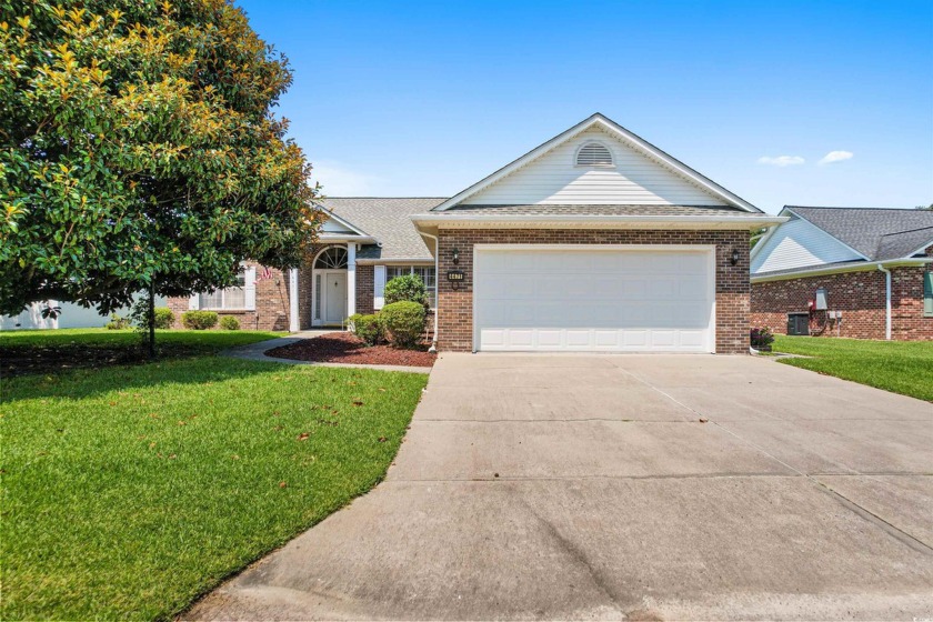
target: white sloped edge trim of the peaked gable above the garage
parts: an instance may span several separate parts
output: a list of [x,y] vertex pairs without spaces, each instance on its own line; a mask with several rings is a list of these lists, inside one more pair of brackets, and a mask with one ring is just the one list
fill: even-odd
[[494,173],[485,177],[484,179],[480,180],[479,182],[474,183],[473,185],[466,188],[465,190],[457,193],[454,197],[443,201],[441,204],[433,208],[432,211],[445,211],[453,207],[457,207],[460,203],[469,200],[471,197],[478,194],[479,192],[485,190],[490,185],[499,182],[500,180],[504,179],[505,177],[510,175],[511,173],[518,171],[519,169],[528,165],[530,162],[543,157],[544,154],[551,152],[556,147],[561,146],[562,143],[566,142],[568,140],[579,136],[582,132],[591,128],[598,128],[610,136],[616,138],[618,140],[625,143],[629,148],[633,151],[641,153],[642,156],[659,162],[664,168],[671,170],[673,173],[679,175],[681,179],[686,180],[691,184],[700,188],[704,192],[709,193],[712,198],[722,200],[726,203],[726,205],[731,205],[739,210],[745,212],[753,212],[753,213],[762,213],[761,210],[742,199],[741,197],[730,192],[722,185],[715,183],[711,179],[706,178],[705,175],[700,174],[695,170],[691,169],[680,160],[673,158],[672,156],[665,153],[664,151],[660,150],[659,148],[654,147],[646,140],[642,139],[641,137],[630,132],[615,121],[606,118],[605,116],[596,112],[595,114],[584,119],[580,123],[576,123],[569,130],[561,132],[560,134],[555,136],[551,140],[544,142],[543,144],[532,149],[521,158],[512,161],[511,163],[502,167]]

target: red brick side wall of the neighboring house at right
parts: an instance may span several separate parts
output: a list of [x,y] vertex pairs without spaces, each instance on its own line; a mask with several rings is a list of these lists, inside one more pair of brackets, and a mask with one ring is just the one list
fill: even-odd
[[[933,340],[933,318],[923,317],[923,268],[891,270],[891,338]],[[811,319],[811,333],[825,325],[822,337],[885,338],[885,275],[880,270],[844,272],[805,279],[769,281],[752,285],[753,327],[787,333],[787,313],[807,311],[817,288],[826,289],[830,310],[842,311],[842,321],[826,323],[822,313]]]

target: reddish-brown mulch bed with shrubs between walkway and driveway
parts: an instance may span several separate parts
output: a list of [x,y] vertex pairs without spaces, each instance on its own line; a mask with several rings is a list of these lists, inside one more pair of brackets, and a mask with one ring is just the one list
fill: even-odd
[[437,354],[428,352],[427,347],[420,347],[417,350],[403,350],[391,345],[367,347],[361,339],[349,332],[334,332],[313,339],[302,339],[291,345],[267,350],[265,355],[318,363],[417,368],[430,368],[438,358]]

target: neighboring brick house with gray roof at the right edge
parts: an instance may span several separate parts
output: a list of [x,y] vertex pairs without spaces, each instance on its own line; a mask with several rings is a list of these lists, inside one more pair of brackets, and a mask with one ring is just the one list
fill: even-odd
[[790,220],[751,253],[753,325],[933,340],[933,211],[787,205],[781,215]]

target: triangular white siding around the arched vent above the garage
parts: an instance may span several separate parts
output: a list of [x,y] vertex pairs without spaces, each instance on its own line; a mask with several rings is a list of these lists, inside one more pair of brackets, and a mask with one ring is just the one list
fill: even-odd
[[[578,150],[599,142],[612,152],[613,168],[576,165]],[[679,173],[621,140],[590,129],[470,197],[465,204],[646,204],[725,205]]]

